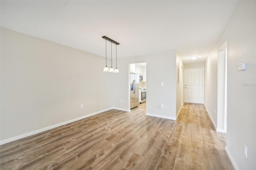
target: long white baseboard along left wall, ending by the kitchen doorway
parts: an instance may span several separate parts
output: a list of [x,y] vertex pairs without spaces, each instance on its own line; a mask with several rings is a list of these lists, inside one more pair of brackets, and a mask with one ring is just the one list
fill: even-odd
[[13,142],[15,140],[19,140],[19,139],[22,139],[22,138],[26,138],[28,136],[31,136],[31,135],[34,135],[34,134],[38,134],[40,132],[44,132],[46,130],[50,130],[50,129],[53,129],[53,128],[57,128],[59,126],[63,126],[65,124],[69,124],[69,123],[72,123],[72,122],[75,122],[75,121],[78,121],[78,120],[81,120],[81,119],[84,119],[84,118],[88,118],[90,116],[94,116],[96,114],[99,114],[99,113],[102,113],[102,112],[106,112],[108,110],[111,110],[111,109],[118,109],[118,110],[121,110],[119,108],[108,108],[108,109],[104,109],[104,110],[100,110],[98,112],[94,112],[94,113],[91,113],[91,114],[87,114],[85,116],[81,116],[79,118],[75,118],[75,119],[72,119],[72,120],[68,120],[66,122],[62,122],[62,123],[58,123],[58,124],[54,124],[52,126],[48,126],[46,128],[42,128],[42,129],[38,129],[38,130],[34,130],[32,132],[28,132],[28,133],[25,133],[25,134],[21,134],[21,135],[18,135],[18,136],[14,136],[12,138],[8,138],[8,139],[5,139],[5,140],[1,140],[0,141],[0,145],[3,145],[3,144],[7,144],[9,142]]

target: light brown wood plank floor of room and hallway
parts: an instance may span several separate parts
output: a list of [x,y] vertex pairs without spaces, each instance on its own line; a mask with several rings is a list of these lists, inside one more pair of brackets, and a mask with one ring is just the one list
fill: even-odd
[[177,121],[110,110],[0,146],[2,170],[234,170],[201,104]]

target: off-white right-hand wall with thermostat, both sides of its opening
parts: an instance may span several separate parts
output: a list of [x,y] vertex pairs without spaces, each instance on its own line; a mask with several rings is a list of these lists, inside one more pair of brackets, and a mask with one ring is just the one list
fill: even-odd
[[[215,124],[217,117],[217,57],[227,41],[227,144],[236,169],[256,168],[256,1],[240,1],[205,63],[205,105]],[[246,70],[238,71],[245,62]],[[244,146],[248,158],[244,156]]]

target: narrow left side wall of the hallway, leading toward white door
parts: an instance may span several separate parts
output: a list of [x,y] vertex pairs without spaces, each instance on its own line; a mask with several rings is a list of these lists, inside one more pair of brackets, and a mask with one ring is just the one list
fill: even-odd
[[[182,102],[181,102],[181,98],[182,98],[182,90],[183,90],[183,86],[182,86],[182,82],[183,82],[183,75],[182,75],[182,67],[183,67],[183,62],[180,58],[180,55],[178,54],[178,52],[176,53],[176,117],[179,114],[179,111],[182,107]],[[179,69],[178,69],[179,68]],[[178,71],[179,71],[179,78],[178,78]],[[178,82],[179,79],[179,82]]]

